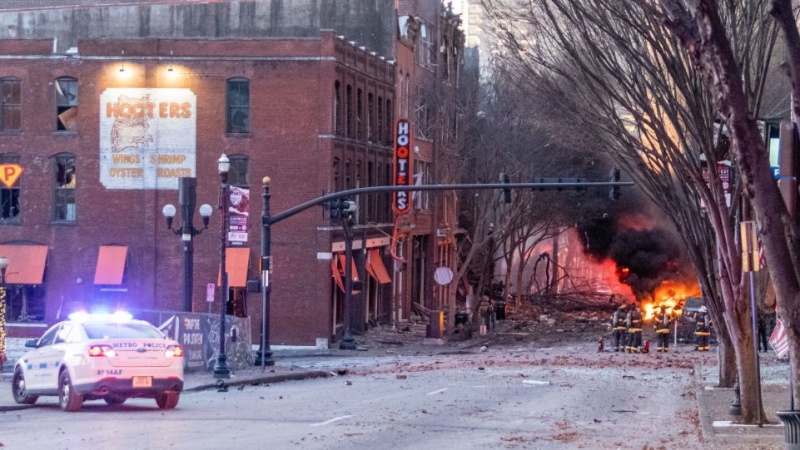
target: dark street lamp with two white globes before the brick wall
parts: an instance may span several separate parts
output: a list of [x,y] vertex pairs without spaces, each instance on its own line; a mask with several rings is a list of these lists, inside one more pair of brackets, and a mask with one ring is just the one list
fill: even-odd
[[177,212],[172,204],[164,205],[161,211],[167,219],[167,228],[179,235],[183,241],[183,310],[192,312],[192,277],[194,274],[194,237],[208,228],[208,221],[211,218],[212,208],[209,204],[200,207],[200,216],[203,218],[203,228],[194,227],[194,207],[197,204],[195,188],[197,179],[193,177],[183,177],[178,179],[178,203],[181,206],[181,227],[172,228],[172,220]]

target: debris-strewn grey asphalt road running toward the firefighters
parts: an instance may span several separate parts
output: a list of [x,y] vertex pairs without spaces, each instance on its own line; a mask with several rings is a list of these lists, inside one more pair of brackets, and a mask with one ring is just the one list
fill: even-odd
[[172,411],[129,400],[114,407],[87,402],[64,413],[43,398],[3,415],[0,442],[53,450],[704,448],[685,368],[535,358],[324,359],[320,364],[349,365],[347,373],[186,392]]

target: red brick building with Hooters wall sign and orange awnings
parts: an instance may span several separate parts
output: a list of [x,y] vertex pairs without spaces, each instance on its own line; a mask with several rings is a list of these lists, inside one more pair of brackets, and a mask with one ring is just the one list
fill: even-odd
[[[161,213],[179,203],[179,177],[195,177],[197,204],[214,209],[209,228],[193,239],[192,310],[210,310],[223,153],[234,198],[244,199],[249,213],[236,219],[246,229],[228,236],[229,312],[249,317],[255,330],[262,318],[261,294],[252,289],[260,276],[262,177],[271,179],[273,214],[326,193],[391,184],[400,112],[394,2],[287,11],[260,1],[44,3],[44,11],[0,8],[0,23],[14,24],[0,35],[0,164],[24,168],[15,184],[0,186],[0,254],[11,262],[9,336],[38,336],[81,306],[185,310],[182,243]],[[416,55],[421,47],[409,41],[406,48]],[[411,115],[416,97],[405,92]],[[435,173],[434,139],[418,142],[415,173]],[[418,236],[393,243],[390,196],[357,200],[355,272],[364,285],[354,296],[354,327],[407,318],[423,298],[441,305],[423,286],[432,285],[433,262],[443,261],[438,244],[448,245],[446,264],[454,250],[434,237],[442,227],[434,225],[441,221],[433,202],[415,199],[414,214],[400,226]],[[454,201],[444,203],[454,211]],[[174,226],[181,220],[179,212]],[[199,216],[193,220],[202,227]],[[416,220],[428,225],[411,225]],[[322,207],[272,227],[272,344],[337,339],[343,251],[340,223]],[[398,276],[404,266],[390,255],[413,252],[415,261],[430,262],[408,258],[415,269]],[[220,296],[216,288],[213,311]]]

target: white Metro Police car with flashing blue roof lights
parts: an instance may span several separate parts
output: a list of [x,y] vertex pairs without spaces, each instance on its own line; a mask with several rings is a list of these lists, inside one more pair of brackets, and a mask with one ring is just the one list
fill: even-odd
[[17,403],[57,395],[71,412],[84,400],[118,405],[143,397],[172,409],[183,390],[183,348],[127,314],[73,314],[25,346],[33,350],[17,360],[11,384]]

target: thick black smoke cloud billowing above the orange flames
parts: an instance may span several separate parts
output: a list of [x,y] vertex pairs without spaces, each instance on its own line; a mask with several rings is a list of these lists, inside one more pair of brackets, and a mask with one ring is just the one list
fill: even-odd
[[691,267],[681,251],[681,243],[666,229],[621,229],[604,217],[578,226],[584,252],[617,265],[619,281],[633,290],[637,299],[650,296],[667,280],[684,280]]

